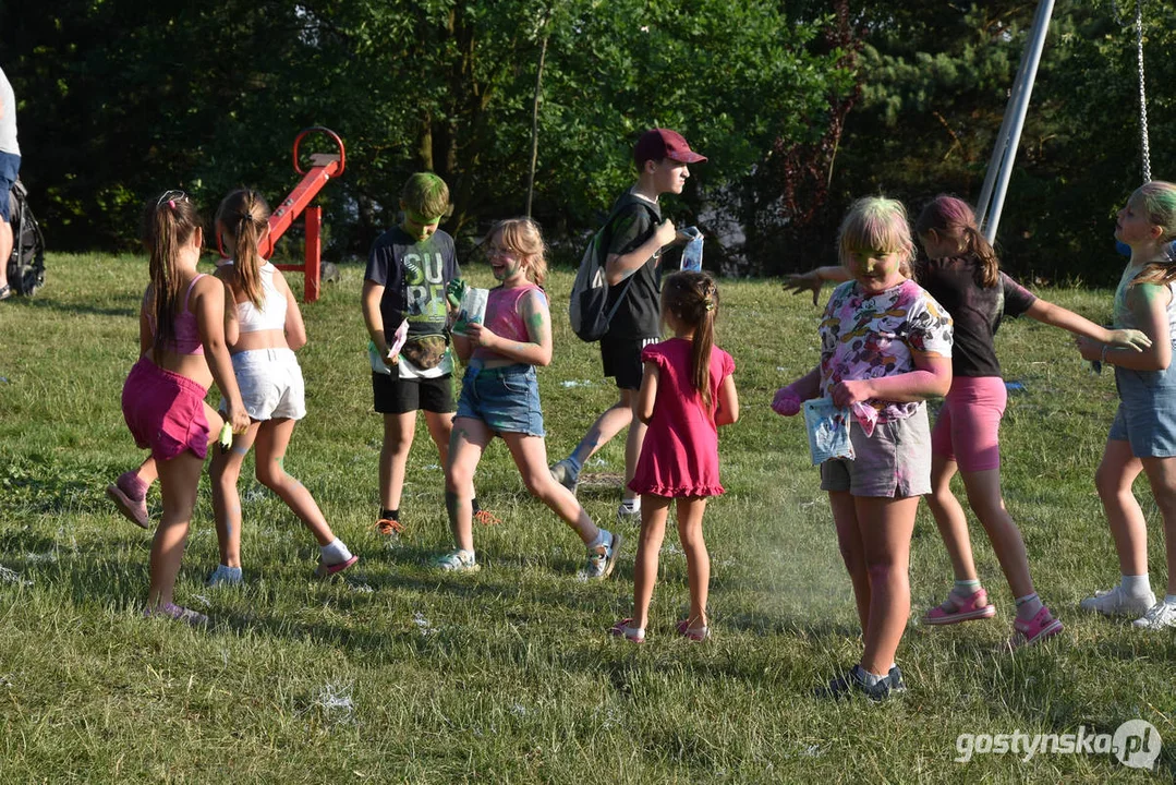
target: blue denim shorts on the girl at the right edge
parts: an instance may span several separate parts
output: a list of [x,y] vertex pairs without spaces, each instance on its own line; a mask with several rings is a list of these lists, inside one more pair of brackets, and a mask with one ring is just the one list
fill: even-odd
[[1127,441],[1136,458],[1176,455],[1176,371],[1115,368],[1118,411],[1109,438]]

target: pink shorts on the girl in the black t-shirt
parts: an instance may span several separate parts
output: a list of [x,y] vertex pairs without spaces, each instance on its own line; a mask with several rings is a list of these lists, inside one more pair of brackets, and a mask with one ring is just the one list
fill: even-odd
[[931,454],[961,472],[1001,467],[1001,418],[1009,393],[1000,377],[956,377],[931,430]]

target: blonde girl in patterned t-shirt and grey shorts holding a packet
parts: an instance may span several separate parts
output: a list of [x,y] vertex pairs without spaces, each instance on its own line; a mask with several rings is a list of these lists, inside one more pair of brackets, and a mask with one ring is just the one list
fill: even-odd
[[900,265],[914,257],[902,205],[867,198],[842,221],[838,255],[853,280],[838,286],[821,321],[821,364],[776,393],[795,414],[810,398],[838,407],[866,401],[877,421],[850,427],[855,460],[821,465],[842,558],[854,585],[864,651],[820,694],[857,690],[881,700],[906,685],[894,664],[910,616],[908,565],[918,497],[930,488],[927,405],[951,384],[951,318]]

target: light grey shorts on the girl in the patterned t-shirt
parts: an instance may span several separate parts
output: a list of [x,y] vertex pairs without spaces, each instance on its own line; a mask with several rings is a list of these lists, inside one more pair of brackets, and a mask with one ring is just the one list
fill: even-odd
[[821,464],[822,491],[848,491],[855,497],[901,499],[931,492],[931,428],[927,406],[904,420],[878,423],[866,435],[849,428],[855,460]]

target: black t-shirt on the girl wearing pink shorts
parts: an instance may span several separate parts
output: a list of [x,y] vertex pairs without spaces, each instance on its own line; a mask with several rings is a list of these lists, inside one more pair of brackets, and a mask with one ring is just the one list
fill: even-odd
[[915,262],[915,280],[951,314],[951,373],[957,377],[1001,375],[993,342],[1001,318],[1020,317],[1037,301],[1004,273],[996,286],[980,286],[980,265],[971,254]]

